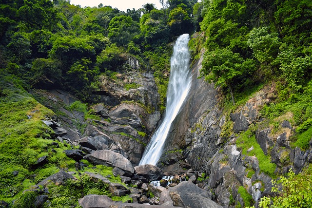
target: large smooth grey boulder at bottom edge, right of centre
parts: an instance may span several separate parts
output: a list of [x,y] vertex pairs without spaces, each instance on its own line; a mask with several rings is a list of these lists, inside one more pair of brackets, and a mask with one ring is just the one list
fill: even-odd
[[222,208],[222,206],[209,198],[207,191],[187,181],[183,181],[177,186],[170,188],[169,192],[174,206],[186,208]]

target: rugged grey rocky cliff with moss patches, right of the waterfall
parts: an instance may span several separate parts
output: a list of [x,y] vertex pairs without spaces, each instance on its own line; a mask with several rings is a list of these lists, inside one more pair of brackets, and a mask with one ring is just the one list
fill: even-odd
[[[164,172],[185,172],[191,167],[198,175],[205,173],[208,190],[224,208],[257,205],[261,197],[271,194],[272,177],[291,168],[299,172],[312,162],[311,148],[290,147],[294,129],[287,119],[280,118],[278,132],[272,133],[273,127],[261,117],[260,106],[274,100],[272,86],[235,112],[225,112],[218,105],[218,89],[197,79],[201,61],[192,69],[190,95],[173,123],[158,166]],[[244,192],[250,197],[243,198]]]

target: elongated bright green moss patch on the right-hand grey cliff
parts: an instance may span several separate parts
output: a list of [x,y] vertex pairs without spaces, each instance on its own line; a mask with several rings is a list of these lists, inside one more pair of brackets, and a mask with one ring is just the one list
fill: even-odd
[[[268,155],[265,155],[262,151],[260,145],[257,143],[255,139],[254,132],[251,130],[247,130],[242,133],[236,140],[236,145],[238,148],[242,149],[242,154],[253,156],[255,155],[259,161],[260,170],[271,176],[272,178],[276,178],[274,174],[274,170],[276,169],[276,165],[271,163],[271,158]],[[247,152],[249,148],[254,146],[254,150]]]

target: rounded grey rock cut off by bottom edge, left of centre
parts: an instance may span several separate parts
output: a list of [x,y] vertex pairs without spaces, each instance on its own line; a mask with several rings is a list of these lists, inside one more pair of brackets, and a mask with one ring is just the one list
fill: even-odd
[[78,200],[82,208],[109,208],[114,202],[106,195],[89,194]]

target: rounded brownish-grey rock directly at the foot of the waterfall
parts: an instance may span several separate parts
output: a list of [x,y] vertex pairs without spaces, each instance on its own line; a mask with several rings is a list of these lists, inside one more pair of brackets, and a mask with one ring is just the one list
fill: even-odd
[[135,167],[136,174],[142,176],[149,181],[156,181],[163,176],[163,171],[157,166],[146,164]]

